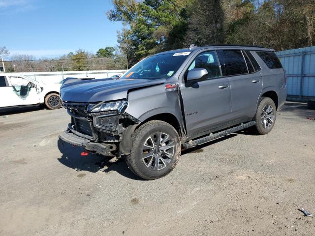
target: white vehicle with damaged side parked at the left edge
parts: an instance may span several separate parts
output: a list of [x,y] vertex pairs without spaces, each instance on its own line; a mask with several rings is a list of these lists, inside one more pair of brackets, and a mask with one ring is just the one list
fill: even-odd
[[44,84],[18,73],[0,73],[0,110],[45,104],[48,109],[62,106],[62,84]]

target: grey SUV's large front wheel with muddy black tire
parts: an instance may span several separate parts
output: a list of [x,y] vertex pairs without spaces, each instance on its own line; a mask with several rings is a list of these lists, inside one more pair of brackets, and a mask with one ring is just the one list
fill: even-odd
[[176,129],[164,121],[151,120],[134,131],[132,150],[126,157],[126,164],[135,175],[152,180],[169,174],[180,155],[181,143]]

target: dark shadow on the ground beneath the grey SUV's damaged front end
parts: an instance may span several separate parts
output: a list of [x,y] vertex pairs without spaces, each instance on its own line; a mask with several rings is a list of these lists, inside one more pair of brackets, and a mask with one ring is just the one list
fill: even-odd
[[[62,153],[62,156],[58,158],[58,161],[63,165],[75,170],[75,171],[89,171],[96,173],[102,171],[109,173],[115,171],[122,176],[131,178],[134,180],[143,180],[134,175],[126,166],[124,159],[120,159],[115,163],[110,163],[111,157],[106,157],[98,154],[90,153],[88,156],[81,156],[83,148],[72,147],[72,145],[61,142],[58,140],[58,148]],[[103,170],[106,168],[105,170]]]

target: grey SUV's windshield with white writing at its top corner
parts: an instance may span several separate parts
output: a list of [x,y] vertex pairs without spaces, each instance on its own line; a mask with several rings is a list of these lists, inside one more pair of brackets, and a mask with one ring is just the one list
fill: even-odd
[[122,79],[158,79],[172,76],[190,52],[156,55],[138,62]]

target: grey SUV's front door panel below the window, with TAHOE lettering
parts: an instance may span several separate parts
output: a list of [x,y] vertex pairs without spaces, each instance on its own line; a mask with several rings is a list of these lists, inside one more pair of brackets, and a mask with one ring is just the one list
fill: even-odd
[[[219,88],[227,85],[227,88]],[[228,78],[205,80],[181,89],[188,136],[202,133],[231,118]]]

